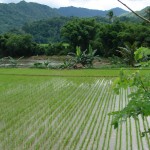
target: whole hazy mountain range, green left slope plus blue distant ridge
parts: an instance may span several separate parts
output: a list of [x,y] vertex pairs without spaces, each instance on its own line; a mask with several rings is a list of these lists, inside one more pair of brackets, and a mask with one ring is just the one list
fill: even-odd
[[[114,8],[114,15],[119,16],[127,11]],[[13,28],[20,28],[26,22],[50,19],[59,16],[93,17],[106,16],[108,11],[90,10],[85,8],[63,7],[53,9],[38,3],[21,1],[17,4],[0,3],[0,33],[5,33]]]

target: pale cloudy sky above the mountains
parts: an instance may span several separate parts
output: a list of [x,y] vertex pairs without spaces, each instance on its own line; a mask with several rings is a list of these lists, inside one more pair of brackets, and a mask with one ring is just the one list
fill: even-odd
[[[25,0],[26,2],[36,2],[48,5],[52,8],[64,6],[84,7],[89,9],[108,10],[115,7],[127,9],[117,0]],[[18,3],[20,0],[0,0],[1,3]],[[150,0],[122,0],[126,5],[133,10],[141,10],[146,6],[150,6]]]

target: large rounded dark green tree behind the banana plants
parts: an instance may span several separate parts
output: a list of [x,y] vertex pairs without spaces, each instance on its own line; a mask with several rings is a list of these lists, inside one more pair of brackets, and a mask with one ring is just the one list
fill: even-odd
[[61,29],[61,36],[67,41],[73,50],[80,46],[81,50],[88,48],[89,44],[95,40],[98,32],[98,23],[95,19],[73,19]]

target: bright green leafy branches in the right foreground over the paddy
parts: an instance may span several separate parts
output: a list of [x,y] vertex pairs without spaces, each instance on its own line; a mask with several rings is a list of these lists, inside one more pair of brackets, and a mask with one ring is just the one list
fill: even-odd
[[[143,55],[143,52],[145,52]],[[136,60],[140,61],[142,58],[149,55],[149,49],[140,48],[135,52]],[[112,124],[114,128],[118,127],[118,124],[127,118],[138,118],[141,115],[142,118],[150,116],[150,75],[141,75],[140,71],[132,74],[127,74],[123,70],[120,71],[120,77],[114,82],[114,91],[119,94],[121,88],[133,88],[132,92],[128,95],[130,101],[121,111],[115,111],[110,113],[114,116]],[[145,133],[150,133],[145,131]]]

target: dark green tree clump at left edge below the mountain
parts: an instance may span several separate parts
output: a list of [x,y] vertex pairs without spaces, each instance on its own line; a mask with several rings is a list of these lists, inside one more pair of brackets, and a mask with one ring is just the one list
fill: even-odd
[[0,37],[1,57],[21,57],[43,54],[41,47],[32,41],[29,34],[4,34]]

